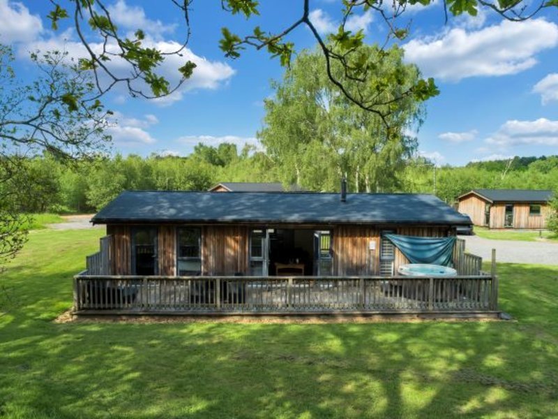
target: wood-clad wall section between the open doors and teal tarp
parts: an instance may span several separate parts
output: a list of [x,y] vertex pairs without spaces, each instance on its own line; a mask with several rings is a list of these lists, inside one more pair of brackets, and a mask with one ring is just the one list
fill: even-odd
[[[370,250],[374,240],[375,250]],[[363,226],[333,228],[333,272],[345,277],[379,272],[379,233]]]

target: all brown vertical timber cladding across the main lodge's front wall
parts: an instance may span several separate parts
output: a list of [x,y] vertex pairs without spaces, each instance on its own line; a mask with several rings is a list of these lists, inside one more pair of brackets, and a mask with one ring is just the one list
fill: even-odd
[[[176,275],[176,228],[158,226],[158,270],[163,276]],[[202,274],[248,274],[248,226],[202,226]],[[333,230],[333,274],[338,276],[377,275],[380,266],[380,235],[393,230],[401,235],[445,237],[451,235],[447,226],[335,226]],[[107,226],[107,234],[114,236],[111,259],[115,275],[131,274],[131,227]],[[370,249],[370,243],[374,249]],[[409,263],[395,249],[394,269]]]

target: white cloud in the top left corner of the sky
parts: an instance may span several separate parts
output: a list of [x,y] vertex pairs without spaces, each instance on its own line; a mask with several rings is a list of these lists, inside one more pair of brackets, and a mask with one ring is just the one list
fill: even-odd
[[19,2],[0,0],[0,43],[29,42],[43,31],[43,22]]

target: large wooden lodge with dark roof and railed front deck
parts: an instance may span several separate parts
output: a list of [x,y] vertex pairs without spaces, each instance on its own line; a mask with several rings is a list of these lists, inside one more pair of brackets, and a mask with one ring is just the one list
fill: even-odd
[[[78,314],[497,314],[495,272],[453,245],[454,277],[402,277],[384,235],[455,237],[435,196],[126,191],[93,223]],[[453,242],[452,242],[453,243]]]

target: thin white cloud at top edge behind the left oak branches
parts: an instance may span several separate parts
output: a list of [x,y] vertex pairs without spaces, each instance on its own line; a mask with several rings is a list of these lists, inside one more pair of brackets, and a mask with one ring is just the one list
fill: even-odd
[[163,24],[160,20],[150,20],[146,17],[144,9],[138,6],[128,6],[126,1],[118,0],[107,8],[110,17],[118,27],[130,29],[143,29],[146,34],[160,38],[163,34],[172,33],[176,24]]

